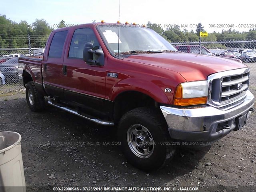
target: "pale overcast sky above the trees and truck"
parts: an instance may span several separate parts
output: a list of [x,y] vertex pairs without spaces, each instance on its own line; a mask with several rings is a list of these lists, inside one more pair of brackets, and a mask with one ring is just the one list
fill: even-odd
[[[220,24],[234,24],[234,29],[242,24],[256,28],[255,2],[249,0],[120,0],[120,22],[136,24],[161,24],[166,29],[170,25],[185,26],[190,31],[199,22],[206,32],[221,32]],[[0,14],[15,22],[26,20],[32,24],[44,18],[50,26],[66,24],[116,22],[119,15],[119,0],[1,0]],[[210,27],[210,26],[212,27]],[[213,28],[215,25],[215,28]],[[188,26],[188,27],[187,27]],[[190,28],[190,26],[192,28]],[[247,27],[247,26],[246,26]],[[229,27],[224,28],[228,30]]]

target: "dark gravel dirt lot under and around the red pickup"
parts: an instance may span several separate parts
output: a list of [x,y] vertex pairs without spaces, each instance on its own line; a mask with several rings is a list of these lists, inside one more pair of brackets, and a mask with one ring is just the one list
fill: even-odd
[[178,149],[167,167],[150,173],[126,162],[114,127],[48,105],[31,112],[24,95],[0,97],[0,130],[22,135],[27,186],[256,186],[255,113],[242,130],[210,147]]

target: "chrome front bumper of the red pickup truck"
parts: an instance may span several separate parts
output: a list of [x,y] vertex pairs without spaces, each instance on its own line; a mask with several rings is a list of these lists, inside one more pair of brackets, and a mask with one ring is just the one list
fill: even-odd
[[[254,106],[254,96],[250,91],[246,98],[233,106],[214,108],[213,106],[194,106],[173,108],[160,106],[168,124],[171,138],[183,141],[214,142],[236,128],[237,118],[249,112]],[[221,129],[221,123],[229,129]]]

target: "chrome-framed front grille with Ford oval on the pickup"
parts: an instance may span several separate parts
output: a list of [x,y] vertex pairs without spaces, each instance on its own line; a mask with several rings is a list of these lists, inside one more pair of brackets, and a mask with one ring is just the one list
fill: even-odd
[[249,71],[249,68],[242,68],[210,75],[208,104],[221,107],[244,99],[249,85]]

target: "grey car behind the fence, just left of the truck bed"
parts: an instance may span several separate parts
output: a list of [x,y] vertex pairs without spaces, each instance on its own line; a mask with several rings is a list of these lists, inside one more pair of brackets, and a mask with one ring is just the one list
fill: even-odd
[[0,71],[5,77],[5,82],[18,82],[18,57],[0,64]]

